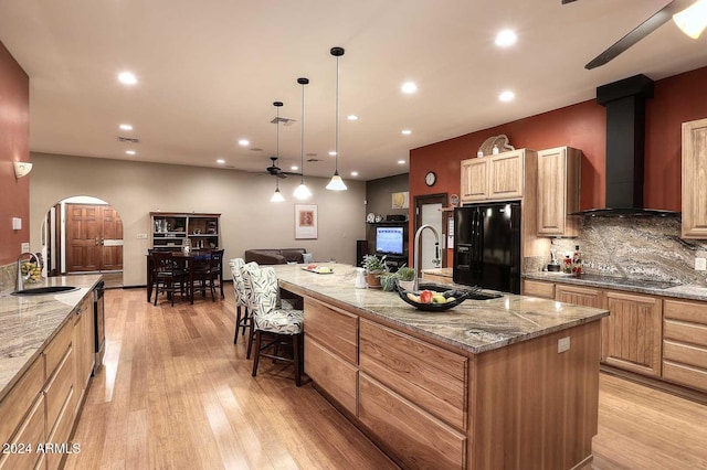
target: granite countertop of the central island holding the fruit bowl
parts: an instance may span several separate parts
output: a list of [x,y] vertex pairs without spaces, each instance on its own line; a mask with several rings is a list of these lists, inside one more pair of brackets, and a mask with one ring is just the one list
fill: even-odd
[[606,310],[553,300],[504,293],[498,299],[466,300],[443,312],[425,312],[405,303],[395,292],[357,289],[356,268],[329,266],[334,274],[316,274],[304,265],[275,266],[281,287],[348,310],[394,323],[473,354],[561,331],[609,314]]

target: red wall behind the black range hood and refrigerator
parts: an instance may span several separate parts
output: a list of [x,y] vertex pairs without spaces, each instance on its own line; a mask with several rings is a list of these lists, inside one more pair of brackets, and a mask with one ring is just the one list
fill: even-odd
[[[655,83],[655,96],[646,102],[644,204],[650,209],[680,211],[682,122],[707,117],[707,67]],[[605,108],[593,99],[490,129],[467,133],[410,151],[410,197],[460,193],[460,162],[475,158],[488,137],[505,133],[517,149],[542,150],[570,146],[581,149],[583,210],[604,204]],[[428,188],[424,175],[437,174]],[[412,211],[410,220],[413,218]],[[447,254],[450,256],[450,254]],[[451,266],[451,259],[449,260]]]

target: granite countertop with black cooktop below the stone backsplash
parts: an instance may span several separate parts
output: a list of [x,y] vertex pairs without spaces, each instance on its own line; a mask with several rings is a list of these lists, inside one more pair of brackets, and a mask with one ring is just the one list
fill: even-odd
[[707,301],[707,285],[679,285],[594,274],[583,274],[577,278],[572,275],[547,271],[526,273],[523,275],[523,277],[525,279],[545,280],[548,282],[573,284],[577,286],[599,287],[602,289],[615,289],[627,292],[648,293],[651,296]]

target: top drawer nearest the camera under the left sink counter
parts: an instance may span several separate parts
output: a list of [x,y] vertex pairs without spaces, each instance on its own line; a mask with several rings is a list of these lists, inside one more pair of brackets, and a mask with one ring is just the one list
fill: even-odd
[[22,423],[44,384],[44,357],[39,356],[0,403],[0,444],[10,437]]

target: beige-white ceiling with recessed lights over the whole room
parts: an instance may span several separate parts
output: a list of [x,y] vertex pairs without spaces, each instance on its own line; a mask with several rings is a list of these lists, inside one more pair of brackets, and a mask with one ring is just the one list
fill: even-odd
[[[299,162],[296,79],[305,76],[305,152],[321,160],[305,173],[321,177],[334,171],[329,49],[342,46],[339,172],[371,180],[407,172],[398,160],[410,149],[592,99],[597,86],[637,73],[661,79],[707,65],[707,34],[692,40],[671,21],[584,70],[665,3],[2,0],[0,41],[30,76],[32,151],[214,168],[223,158],[229,168],[263,171],[276,152],[272,103],[282,100],[281,116],[297,120],[279,126],[281,167],[289,170]],[[514,47],[494,45],[503,28],[516,30]],[[117,83],[125,70],[136,86]],[[416,94],[400,93],[405,81]],[[504,89],[516,93],[514,103],[498,102]],[[120,122],[135,128],[120,131]],[[251,145],[239,147],[240,138]]]

